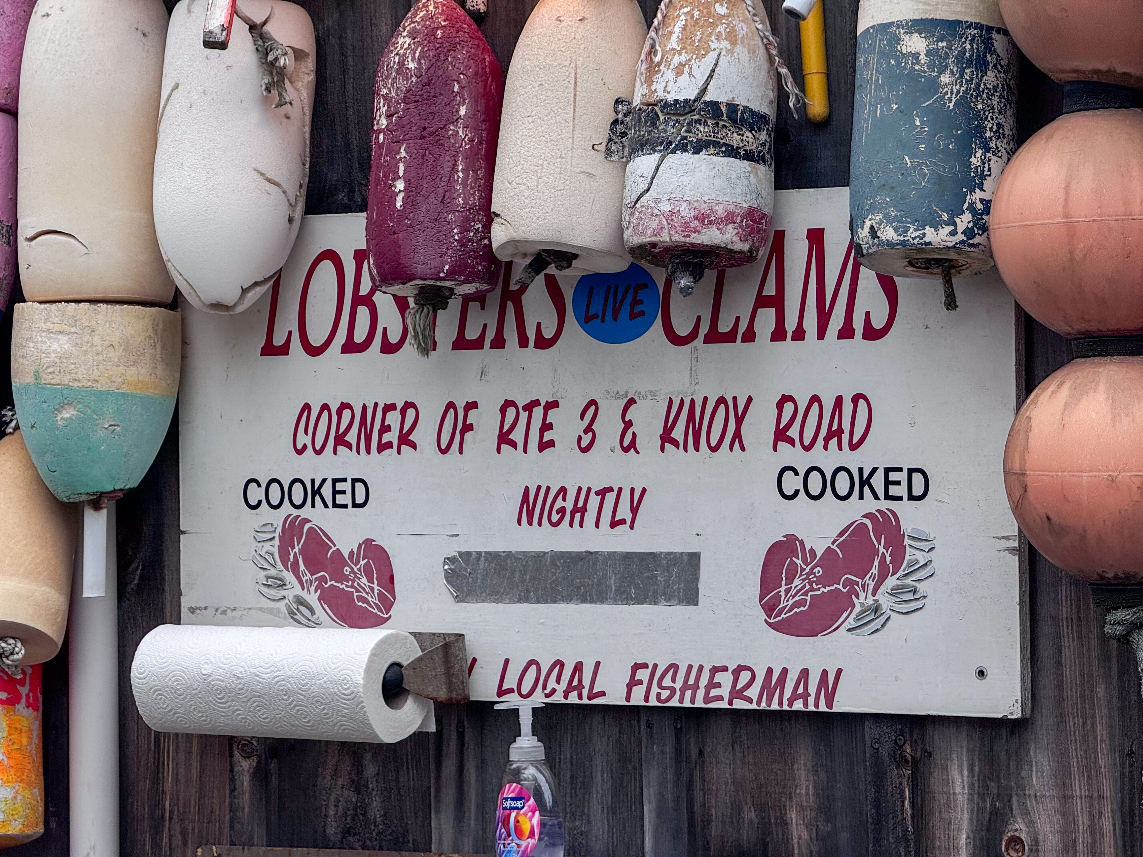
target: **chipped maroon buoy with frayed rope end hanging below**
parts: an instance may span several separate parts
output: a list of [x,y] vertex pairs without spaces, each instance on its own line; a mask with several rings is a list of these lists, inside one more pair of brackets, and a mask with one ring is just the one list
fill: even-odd
[[411,297],[409,338],[432,350],[432,317],[489,291],[493,169],[504,82],[455,0],[417,0],[377,65],[366,247],[374,287]]

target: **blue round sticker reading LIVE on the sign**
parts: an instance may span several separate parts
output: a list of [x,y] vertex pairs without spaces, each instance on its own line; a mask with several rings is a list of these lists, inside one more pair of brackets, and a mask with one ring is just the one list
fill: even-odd
[[617,274],[584,274],[575,285],[572,312],[592,339],[633,342],[658,318],[658,286],[636,264]]

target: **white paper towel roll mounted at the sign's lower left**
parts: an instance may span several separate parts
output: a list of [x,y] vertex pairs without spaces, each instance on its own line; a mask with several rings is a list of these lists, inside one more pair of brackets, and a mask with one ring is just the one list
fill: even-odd
[[160,732],[387,744],[432,710],[381,694],[389,665],[419,654],[402,631],[160,625],[135,651],[131,690]]

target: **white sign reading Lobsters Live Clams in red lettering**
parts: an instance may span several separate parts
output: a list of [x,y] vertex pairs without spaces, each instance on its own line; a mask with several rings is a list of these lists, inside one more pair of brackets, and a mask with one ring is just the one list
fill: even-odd
[[1021,716],[1013,302],[860,269],[848,210],[780,192],[687,299],[506,277],[429,360],[307,217],[184,310],[183,620],[463,632],[477,699]]

